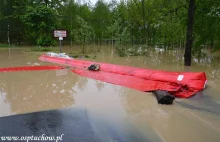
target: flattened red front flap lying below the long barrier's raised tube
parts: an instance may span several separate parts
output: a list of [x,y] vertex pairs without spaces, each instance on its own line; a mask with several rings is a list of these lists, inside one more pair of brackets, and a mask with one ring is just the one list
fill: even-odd
[[156,80],[147,80],[143,78],[138,78],[135,76],[121,75],[103,71],[89,71],[83,69],[74,69],[72,72],[85,76],[88,78],[100,80],[103,82],[121,85],[127,88],[143,91],[143,92],[153,92],[155,90],[165,90],[171,95],[180,98],[187,98],[192,96],[197,92],[197,90],[187,88],[184,85],[172,83],[172,82],[162,82]]

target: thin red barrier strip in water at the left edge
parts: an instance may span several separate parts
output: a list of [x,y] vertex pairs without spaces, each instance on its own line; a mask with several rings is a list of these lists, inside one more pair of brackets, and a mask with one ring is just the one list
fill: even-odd
[[8,67],[0,68],[0,72],[12,72],[12,71],[35,71],[35,70],[59,70],[64,69],[63,66],[22,66],[22,67]]

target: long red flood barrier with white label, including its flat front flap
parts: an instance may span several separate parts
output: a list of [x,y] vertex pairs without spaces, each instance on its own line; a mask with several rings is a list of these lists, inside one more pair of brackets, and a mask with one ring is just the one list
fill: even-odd
[[[205,72],[150,70],[146,68],[52,57],[46,54],[40,56],[39,59],[75,67],[72,71],[81,76],[144,92],[164,90],[180,98],[191,97],[196,92],[203,90],[207,81]],[[99,64],[100,71],[85,70],[91,64]]]

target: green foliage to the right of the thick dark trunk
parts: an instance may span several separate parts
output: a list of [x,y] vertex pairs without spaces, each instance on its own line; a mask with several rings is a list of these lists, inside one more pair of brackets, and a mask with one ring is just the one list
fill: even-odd
[[220,49],[220,1],[205,0],[197,3],[195,17],[195,45],[192,53],[201,54],[202,48]]

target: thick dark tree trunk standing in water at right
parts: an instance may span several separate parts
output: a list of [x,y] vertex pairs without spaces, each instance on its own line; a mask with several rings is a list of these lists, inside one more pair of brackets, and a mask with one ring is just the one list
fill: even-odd
[[195,13],[195,0],[189,0],[188,8],[188,22],[187,22],[187,35],[186,35],[186,48],[184,55],[184,65],[191,66],[192,58],[192,44],[193,44],[193,23]]

